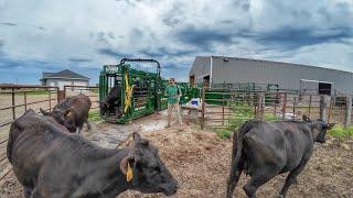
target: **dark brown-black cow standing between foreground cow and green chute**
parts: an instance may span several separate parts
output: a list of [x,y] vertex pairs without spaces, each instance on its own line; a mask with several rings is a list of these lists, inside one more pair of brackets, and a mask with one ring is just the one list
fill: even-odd
[[52,112],[46,112],[41,108],[41,112],[44,116],[53,117],[56,122],[63,124],[72,133],[76,131],[81,133],[84,123],[86,123],[88,130],[92,130],[88,123],[88,112],[92,102],[89,97],[81,94],[74,97],[64,99],[62,102],[57,103]]

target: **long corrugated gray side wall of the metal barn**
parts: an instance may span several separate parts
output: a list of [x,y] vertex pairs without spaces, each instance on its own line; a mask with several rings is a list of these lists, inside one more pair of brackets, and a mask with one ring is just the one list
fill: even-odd
[[300,79],[330,81],[332,89],[353,92],[353,74],[307,65],[228,58],[213,56],[212,79],[214,84],[256,82],[278,84],[284,89],[299,89]]

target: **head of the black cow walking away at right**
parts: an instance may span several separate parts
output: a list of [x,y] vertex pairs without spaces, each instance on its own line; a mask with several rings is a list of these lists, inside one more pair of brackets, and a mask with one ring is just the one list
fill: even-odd
[[327,123],[321,119],[312,121],[306,114],[302,116],[302,120],[310,124],[313,141],[319,143],[325,142],[327,131],[331,130],[335,124],[335,123]]

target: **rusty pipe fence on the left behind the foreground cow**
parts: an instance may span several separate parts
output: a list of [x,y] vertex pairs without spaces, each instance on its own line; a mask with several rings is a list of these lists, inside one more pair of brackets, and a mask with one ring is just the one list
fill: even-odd
[[10,124],[26,110],[40,112],[40,108],[52,111],[63,99],[84,94],[92,100],[92,109],[99,108],[99,91],[94,86],[0,86],[0,184],[11,173],[12,166],[8,162],[6,150],[9,139]]

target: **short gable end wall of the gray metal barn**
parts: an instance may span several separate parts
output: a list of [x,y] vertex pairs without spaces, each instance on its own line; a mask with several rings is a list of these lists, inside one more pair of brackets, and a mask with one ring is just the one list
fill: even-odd
[[211,57],[196,56],[190,72],[189,77],[195,75],[195,84],[203,81],[203,77],[210,75],[211,70]]

